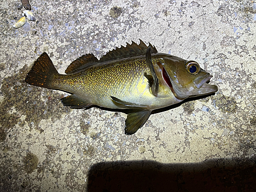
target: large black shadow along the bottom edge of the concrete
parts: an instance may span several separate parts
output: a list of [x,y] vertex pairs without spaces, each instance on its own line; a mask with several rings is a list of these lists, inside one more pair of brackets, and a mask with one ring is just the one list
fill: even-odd
[[256,191],[256,159],[102,162],[88,179],[88,191]]

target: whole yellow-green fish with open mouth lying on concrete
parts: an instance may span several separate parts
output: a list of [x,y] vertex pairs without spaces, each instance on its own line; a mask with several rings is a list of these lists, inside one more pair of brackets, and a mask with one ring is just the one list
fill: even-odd
[[140,129],[153,110],[182,102],[189,97],[212,94],[218,87],[198,62],[159,53],[155,46],[121,46],[100,59],[85,54],[59,74],[47,53],[34,62],[25,81],[33,86],[60,90],[71,95],[61,98],[72,109],[103,109],[127,114],[124,133]]

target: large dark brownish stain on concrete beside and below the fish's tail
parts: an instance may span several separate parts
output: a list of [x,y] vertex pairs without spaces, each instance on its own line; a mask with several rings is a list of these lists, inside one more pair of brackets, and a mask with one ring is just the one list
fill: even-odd
[[[23,127],[27,122],[31,129],[37,129],[42,119],[59,119],[62,114],[70,112],[64,107],[59,94],[53,90],[30,86],[25,82],[29,68],[25,66],[19,73],[2,81],[1,93],[4,99],[0,103],[0,140],[4,141],[8,130],[15,125]],[[11,137],[11,135],[9,136]]]

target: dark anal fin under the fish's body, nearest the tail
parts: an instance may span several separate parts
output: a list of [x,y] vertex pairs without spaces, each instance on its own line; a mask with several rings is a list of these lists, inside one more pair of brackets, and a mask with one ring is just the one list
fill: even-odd
[[70,95],[60,99],[64,106],[70,106],[72,109],[88,108],[91,103],[85,99],[81,99],[76,95]]

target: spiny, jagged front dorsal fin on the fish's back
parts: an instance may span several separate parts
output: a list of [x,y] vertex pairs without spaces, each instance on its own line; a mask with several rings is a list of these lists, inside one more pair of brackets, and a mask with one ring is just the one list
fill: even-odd
[[100,58],[99,62],[145,55],[148,47],[152,47],[151,53],[158,52],[155,46],[152,46],[150,43],[148,46],[146,46],[142,40],[140,40],[139,45],[132,41],[131,45],[126,43],[126,47],[121,46],[121,48],[116,48],[106,53],[106,55]]

